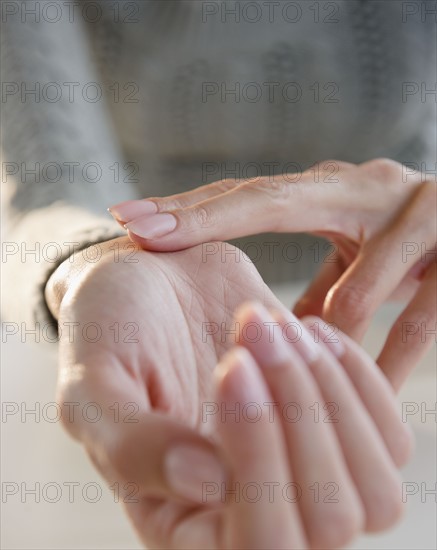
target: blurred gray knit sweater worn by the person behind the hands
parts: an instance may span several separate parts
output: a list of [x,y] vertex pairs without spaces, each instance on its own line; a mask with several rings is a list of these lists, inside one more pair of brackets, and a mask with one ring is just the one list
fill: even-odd
[[328,158],[435,170],[435,10],[2,2],[5,319],[44,314],[58,263],[123,234],[106,213],[116,202]]

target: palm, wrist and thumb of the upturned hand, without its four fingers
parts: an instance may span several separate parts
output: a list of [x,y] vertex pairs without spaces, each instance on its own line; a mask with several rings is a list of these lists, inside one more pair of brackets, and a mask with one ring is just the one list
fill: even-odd
[[204,477],[225,479],[202,422],[230,347],[221,324],[245,300],[279,304],[248,258],[223,262],[220,246],[206,259],[201,246],[157,254],[119,238],[76,253],[46,288],[65,428],[151,547],[184,548],[174,531],[203,505]]

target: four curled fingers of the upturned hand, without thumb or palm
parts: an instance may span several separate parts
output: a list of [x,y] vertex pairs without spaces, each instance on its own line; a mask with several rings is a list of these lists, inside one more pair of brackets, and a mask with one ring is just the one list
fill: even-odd
[[233,472],[221,492],[240,498],[231,497],[227,522],[215,518],[224,547],[338,548],[360,528],[393,524],[402,510],[396,465],[411,440],[380,369],[318,318],[301,324],[254,304],[236,321],[247,351],[228,352],[216,376],[218,432]]

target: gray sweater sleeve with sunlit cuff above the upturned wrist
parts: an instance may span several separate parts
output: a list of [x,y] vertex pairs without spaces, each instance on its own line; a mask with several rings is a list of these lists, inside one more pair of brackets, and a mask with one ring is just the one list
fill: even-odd
[[120,177],[84,22],[44,17],[53,2],[12,4],[1,48],[2,317],[35,326],[54,321],[44,300],[51,273],[72,252],[124,235],[106,208],[136,188]]

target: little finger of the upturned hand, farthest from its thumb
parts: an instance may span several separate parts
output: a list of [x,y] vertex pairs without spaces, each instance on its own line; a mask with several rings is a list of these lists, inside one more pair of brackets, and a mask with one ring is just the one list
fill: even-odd
[[372,417],[393,462],[398,467],[403,466],[411,456],[412,434],[407,425],[401,422],[393,388],[381,369],[361,346],[335,327],[325,324],[322,319],[305,317],[302,323],[314,338],[328,346],[335,343],[342,345],[340,362],[345,373]]

